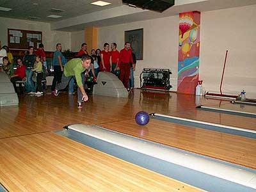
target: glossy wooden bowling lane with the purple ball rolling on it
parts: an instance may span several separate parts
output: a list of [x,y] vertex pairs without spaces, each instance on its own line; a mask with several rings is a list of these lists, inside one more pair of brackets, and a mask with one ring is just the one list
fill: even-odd
[[134,119],[98,125],[170,147],[256,168],[256,143],[252,138],[156,119],[150,119],[144,126],[136,124]]

